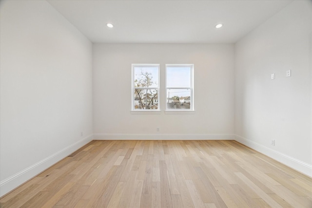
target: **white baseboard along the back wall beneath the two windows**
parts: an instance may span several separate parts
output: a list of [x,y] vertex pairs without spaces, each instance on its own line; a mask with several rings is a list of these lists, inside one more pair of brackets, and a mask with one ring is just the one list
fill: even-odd
[[234,140],[234,134],[95,133],[95,140]]

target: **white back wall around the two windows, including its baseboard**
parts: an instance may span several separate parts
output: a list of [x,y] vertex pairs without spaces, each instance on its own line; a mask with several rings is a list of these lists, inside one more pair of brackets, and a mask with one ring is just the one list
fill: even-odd
[[[132,63],[160,64],[161,113],[131,113]],[[166,63],[194,64],[194,114],[164,113]],[[93,70],[97,139],[234,138],[233,44],[94,44]]]

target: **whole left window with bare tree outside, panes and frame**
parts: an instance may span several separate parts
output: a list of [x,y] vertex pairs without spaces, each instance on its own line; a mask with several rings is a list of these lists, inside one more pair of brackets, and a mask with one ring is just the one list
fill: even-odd
[[159,65],[133,64],[133,110],[158,110]]

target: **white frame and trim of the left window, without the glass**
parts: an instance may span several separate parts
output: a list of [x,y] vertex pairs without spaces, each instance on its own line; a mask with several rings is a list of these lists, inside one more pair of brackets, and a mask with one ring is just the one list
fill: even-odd
[[[134,68],[135,67],[157,67],[158,68],[158,87],[149,87],[149,88],[142,88],[142,89],[158,89],[158,109],[157,110],[152,110],[152,109],[135,109],[134,105],[134,91],[135,91],[135,86],[134,86],[134,80],[135,80],[135,74],[134,74]],[[153,112],[160,112],[160,64],[132,64],[131,65],[131,112],[132,113],[153,113]],[[137,88],[139,89],[139,88]]]

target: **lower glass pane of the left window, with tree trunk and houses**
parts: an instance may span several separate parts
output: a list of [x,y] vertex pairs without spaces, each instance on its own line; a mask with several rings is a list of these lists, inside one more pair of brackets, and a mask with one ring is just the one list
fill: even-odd
[[158,91],[155,89],[135,89],[134,109],[158,109]]

